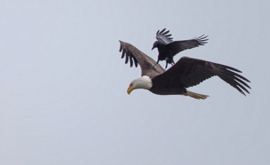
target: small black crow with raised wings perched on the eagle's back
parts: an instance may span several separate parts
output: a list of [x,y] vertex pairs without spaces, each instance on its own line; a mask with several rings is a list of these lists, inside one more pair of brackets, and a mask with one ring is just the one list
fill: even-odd
[[166,59],[166,67],[167,69],[168,64],[175,64],[173,61],[173,57],[177,55],[179,52],[182,52],[183,50],[192,49],[193,47],[198,47],[200,45],[205,45],[207,43],[206,41],[207,36],[201,35],[198,38],[193,38],[191,40],[177,40],[173,41],[173,38],[171,38],[171,34],[168,34],[170,30],[166,31],[166,28],[164,28],[161,31],[156,32],[156,42],[153,42],[152,50],[155,48],[158,48],[158,62],[161,60]]

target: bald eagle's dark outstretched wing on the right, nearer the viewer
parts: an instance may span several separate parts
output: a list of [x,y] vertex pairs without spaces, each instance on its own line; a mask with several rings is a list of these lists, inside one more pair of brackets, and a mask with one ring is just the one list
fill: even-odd
[[240,93],[246,96],[249,93],[247,89],[251,89],[247,82],[250,82],[238,69],[228,67],[223,64],[208,62],[202,59],[194,59],[190,57],[181,57],[170,69],[163,74],[156,76],[153,81],[168,79],[174,84],[183,85],[188,88],[200,84],[202,81],[212,76],[219,76]]

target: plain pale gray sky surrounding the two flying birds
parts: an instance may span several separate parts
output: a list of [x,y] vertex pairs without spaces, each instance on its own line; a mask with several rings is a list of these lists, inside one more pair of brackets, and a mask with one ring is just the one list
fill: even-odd
[[[0,164],[270,164],[269,1],[0,1]],[[209,35],[195,57],[242,70],[185,96],[126,88],[118,40]],[[164,67],[165,62],[161,62]],[[190,90],[191,90],[190,89]]]

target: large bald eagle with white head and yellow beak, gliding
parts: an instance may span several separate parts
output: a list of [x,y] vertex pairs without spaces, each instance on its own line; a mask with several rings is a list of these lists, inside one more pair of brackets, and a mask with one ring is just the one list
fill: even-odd
[[[205,99],[207,95],[188,91],[188,87],[200,84],[205,79],[212,76],[219,76],[240,93],[246,96],[251,89],[246,82],[248,79],[237,74],[241,72],[233,67],[223,64],[207,62],[202,59],[194,59],[190,57],[181,57],[171,68],[165,71],[160,64],[156,64],[148,55],[141,52],[133,45],[120,41],[121,58],[126,57],[125,63],[130,63],[130,67],[138,64],[141,67],[141,77],[134,79],[129,84],[127,93],[131,93],[134,89],[147,89],[158,95],[183,95],[197,99]],[[156,66],[154,66],[156,64]],[[153,67],[154,66],[154,67]]]

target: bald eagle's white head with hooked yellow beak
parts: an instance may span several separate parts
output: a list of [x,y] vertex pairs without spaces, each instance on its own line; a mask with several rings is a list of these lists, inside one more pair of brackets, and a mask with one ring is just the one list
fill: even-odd
[[139,79],[134,79],[129,84],[129,88],[127,89],[127,93],[130,94],[134,89],[151,89],[153,83],[149,76],[142,76]]

